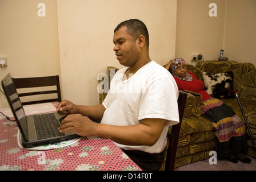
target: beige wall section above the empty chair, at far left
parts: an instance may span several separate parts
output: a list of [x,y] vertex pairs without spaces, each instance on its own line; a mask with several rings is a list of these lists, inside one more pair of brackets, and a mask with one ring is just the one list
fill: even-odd
[[[40,0],[0,1],[0,55],[7,57],[1,80],[13,77],[59,75],[56,3],[44,0],[46,16],[39,17]],[[7,107],[0,94],[0,107]]]

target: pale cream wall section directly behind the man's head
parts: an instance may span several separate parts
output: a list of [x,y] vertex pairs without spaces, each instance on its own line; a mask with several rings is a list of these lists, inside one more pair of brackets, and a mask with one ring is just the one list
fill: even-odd
[[113,51],[114,28],[141,19],[149,30],[150,57],[165,64],[175,56],[176,0],[57,0],[63,98],[99,104],[97,76],[121,68]]

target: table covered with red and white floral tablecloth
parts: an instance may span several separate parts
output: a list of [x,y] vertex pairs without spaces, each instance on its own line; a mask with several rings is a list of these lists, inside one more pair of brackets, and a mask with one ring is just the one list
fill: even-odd
[[[55,111],[53,104],[24,106],[25,113]],[[0,109],[14,119],[10,109]],[[70,146],[50,150],[25,150],[18,146],[18,126],[0,117],[0,170],[15,171],[141,171],[114,142],[107,138],[82,138]],[[55,143],[57,145],[58,143]]]

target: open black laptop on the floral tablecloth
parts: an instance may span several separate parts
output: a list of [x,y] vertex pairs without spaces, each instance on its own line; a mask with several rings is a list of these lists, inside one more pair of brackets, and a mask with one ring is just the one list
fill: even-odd
[[[57,112],[26,115],[10,73],[3,78],[1,84],[21,131],[21,144],[24,148],[44,146],[80,137],[73,132],[62,134],[58,131],[61,121],[65,116],[59,115]],[[48,124],[43,126],[47,122]]]

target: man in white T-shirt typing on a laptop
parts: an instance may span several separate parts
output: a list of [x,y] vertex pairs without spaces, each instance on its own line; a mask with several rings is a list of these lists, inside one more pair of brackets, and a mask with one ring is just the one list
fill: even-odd
[[[114,51],[120,69],[102,104],[80,106],[62,101],[57,111],[67,117],[59,130],[110,138],[145,170],[163,161],[168,126],[178,123],[178,88],[173,76],[149,57],[149,34],[143,22],[130,19],[114,30]],[[101,120],[101,123],[91,122]]]

